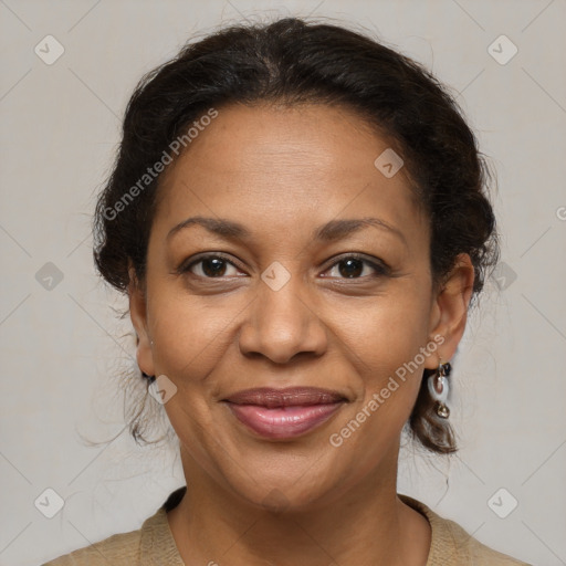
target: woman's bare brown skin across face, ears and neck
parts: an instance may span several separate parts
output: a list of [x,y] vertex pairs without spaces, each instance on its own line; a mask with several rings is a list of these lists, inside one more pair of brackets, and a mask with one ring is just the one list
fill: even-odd
[[[400,433],[423,368],[450,359],[462,337],[473,266],[462,254],[433,285],[428,219],[405,168],[386,178],[374,166],[388,147],[346,108],[231,105],[166,172],[146,280],[130,270],[129,298],[139,367],[177,387],[165,409],[189,488],[168,521],[187,565],[427,562],[430,525],[396,492]],[[167,238],[196,216],[237,221],[250,235],[192,224]],[[312,237],[331,220],[367,217],[400,235],[366,227]],[[233,265],[221,263],[221,277],[210,263],[177,272],[203,252]],[[348,277],[352,252],[390,270],[364,262]],[[261,279],[275,261],[290,275],[277,291]],[[333,447],[331,434],[436,335],[442,345]],[[337,390],[348,402],[293,440],[259,438],[221,402],[289,386]]]

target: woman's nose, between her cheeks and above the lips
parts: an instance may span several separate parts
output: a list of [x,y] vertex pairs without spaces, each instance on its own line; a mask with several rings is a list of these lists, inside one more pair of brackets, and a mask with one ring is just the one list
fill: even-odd
[[261,355],[286,364],[298,354],[321,356],[327,347],[327,328],[301,294],[300,277],[292,275],[277,291],[261,282],[239,336],[244,355]]

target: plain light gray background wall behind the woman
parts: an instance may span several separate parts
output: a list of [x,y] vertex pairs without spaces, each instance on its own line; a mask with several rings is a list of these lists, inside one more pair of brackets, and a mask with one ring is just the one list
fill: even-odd
[[[504,264],[455,364],[461,451],[403,450],[399,491],[502,552],[566,564],[564,0],[0,0],[0,563],[138,528],[184,484],[171,449],[81,440],[124,429],[116,375],[133,353],[109,308],[124,302],[94,275],[90,220],[142,74],[258,11],[363,24],[453,87],[497,170]],[[52,65],[34,53],[48,34],[65,50]],[[501,34],[518,49],[504,65],[488,51]],[[46,262],[63,274],[51,290],[35,279]],[[34,506],[48,488],[65,501],[51,520]],[[501,488],[518,501],[506,518],[488,505]]]

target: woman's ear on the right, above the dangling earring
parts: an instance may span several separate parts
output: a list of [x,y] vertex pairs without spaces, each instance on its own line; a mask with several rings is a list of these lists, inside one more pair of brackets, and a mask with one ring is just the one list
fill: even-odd
[[[474,269],[468,253],[458,255],[454,266],[444,279],[430,313],[430,336],[444,338],[438,348],[439,357],[447,361],[455,354],[468,319],[468,307],[473,292]],[[429,356],[428,369],[436,369],[438,360]]]

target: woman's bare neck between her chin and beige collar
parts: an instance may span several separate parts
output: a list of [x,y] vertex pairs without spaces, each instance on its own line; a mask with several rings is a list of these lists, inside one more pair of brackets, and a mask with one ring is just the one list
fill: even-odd
[[281,512],[220,488],[182,449],[181,458],[190,481],[168,521],[187,566],[427,563],[430,525],[397,496],[397,454],[346,493]]

